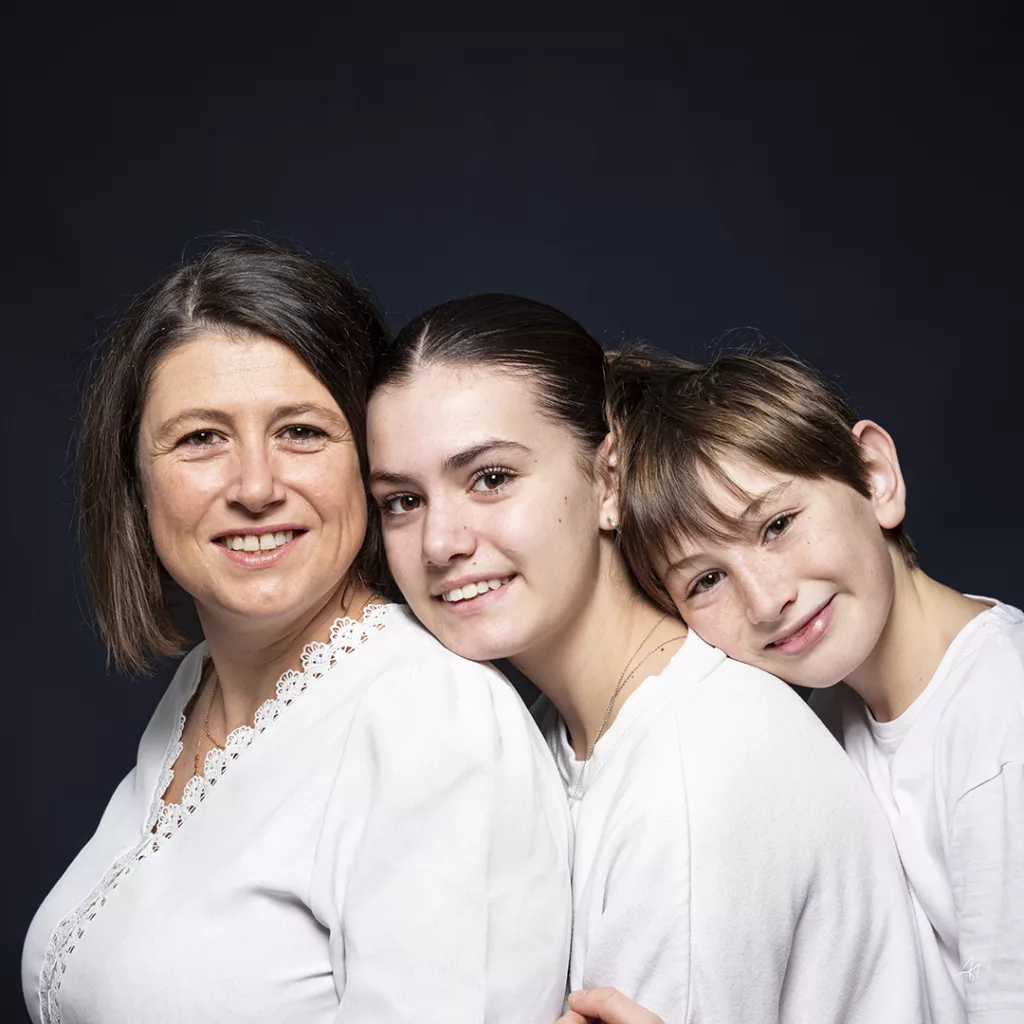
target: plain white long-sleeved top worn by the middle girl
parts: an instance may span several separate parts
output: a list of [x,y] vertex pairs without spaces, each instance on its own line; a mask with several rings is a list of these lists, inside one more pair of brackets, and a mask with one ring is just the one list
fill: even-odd
[[885,818],[784,683],[691,631],[586,766],[539,710],[575,822],[572,988],[666,1024],[929,1019]]

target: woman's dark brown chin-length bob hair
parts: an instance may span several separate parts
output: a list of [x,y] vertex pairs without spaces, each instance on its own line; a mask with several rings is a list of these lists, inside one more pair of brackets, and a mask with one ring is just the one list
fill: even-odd
[[[386,340],[371,299],[328,263],[261,239],[221,241],[142,293],[112,331],[82,400],[78,469],[85,568],[111,660],[150,671],[183,640],[167,599],[169,577],[153,546],[137,467],[139,423],[154,371],[205,331],[259,335],[287,345],[345,415],[368,474],[366,406]],[[371,503],[372,504],[372,503]],[[387,589],[376,532],[352,565]]]

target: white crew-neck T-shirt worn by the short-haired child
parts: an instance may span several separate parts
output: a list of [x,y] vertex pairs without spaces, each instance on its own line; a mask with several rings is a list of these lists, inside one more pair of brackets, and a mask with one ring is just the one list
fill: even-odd
[[[918,699],[876,722],[846,685],[815,694],[889,818],[938,1020],[1024,1022],[1024,615],[993,606]],[[956,1007],[961,1002],[961,1007]]]

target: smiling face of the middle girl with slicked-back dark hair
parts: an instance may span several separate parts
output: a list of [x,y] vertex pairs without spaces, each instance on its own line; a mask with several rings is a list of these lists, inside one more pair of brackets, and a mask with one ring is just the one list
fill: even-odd
[[395,581],[417,617],[474,660],[564,637],[593,600],[606,473],[528,378],[428,366],[370,402],[371,488]]

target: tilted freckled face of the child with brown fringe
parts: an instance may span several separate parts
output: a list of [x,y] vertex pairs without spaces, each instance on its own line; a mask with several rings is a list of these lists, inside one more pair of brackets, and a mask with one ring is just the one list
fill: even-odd
[[680,613],[730,657],[787,682],[848,678],[874,649],[892,604],[886,509],[836,480],[738,460],[722,468],[764,500],[744,514],[741,499],[711,484],[712,501],[748,528],[738,540],[677,542],[660,577]]

